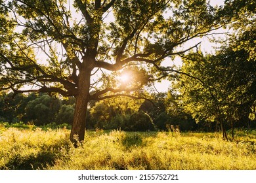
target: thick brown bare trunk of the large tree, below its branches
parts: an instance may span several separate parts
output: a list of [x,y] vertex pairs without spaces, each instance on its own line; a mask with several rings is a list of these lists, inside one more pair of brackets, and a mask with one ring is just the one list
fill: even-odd
[[87,114],[87,105],[89,102],[91,71],[80,71],[78,82],[78,94],[75,102],[75,113],[70,133],[70,141],[77,146],[78,142],[85,139],[85,120]]

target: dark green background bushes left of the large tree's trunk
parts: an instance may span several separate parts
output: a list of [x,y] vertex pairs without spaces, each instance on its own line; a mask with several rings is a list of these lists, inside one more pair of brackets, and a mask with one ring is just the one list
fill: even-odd
[[30,95],[1,93],[0,122],[10,124],[24,122],[35,125],[72,124],[74,99],[58,99],[49,95],[31,93]]

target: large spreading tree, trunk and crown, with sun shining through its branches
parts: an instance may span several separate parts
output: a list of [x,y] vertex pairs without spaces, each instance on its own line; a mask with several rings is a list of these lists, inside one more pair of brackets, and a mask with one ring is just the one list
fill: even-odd
[[[141,99],[144,86],[177,73],[172,64],[161,64],[165,58],[196,48],[199,43],[182,46],[230,22],[223,11],[230,6],[211,7],[205,0],[0,2],[1,90],[75,96],[71,141],[74,135],[84,139],[89,101]],[[109,14],[114,20],[107,21]],[[131,65],[141,66],[134,67],[137,81],[114,85],[108,73],[116,76]],[[49,111],[37,108],[42,115]]]

